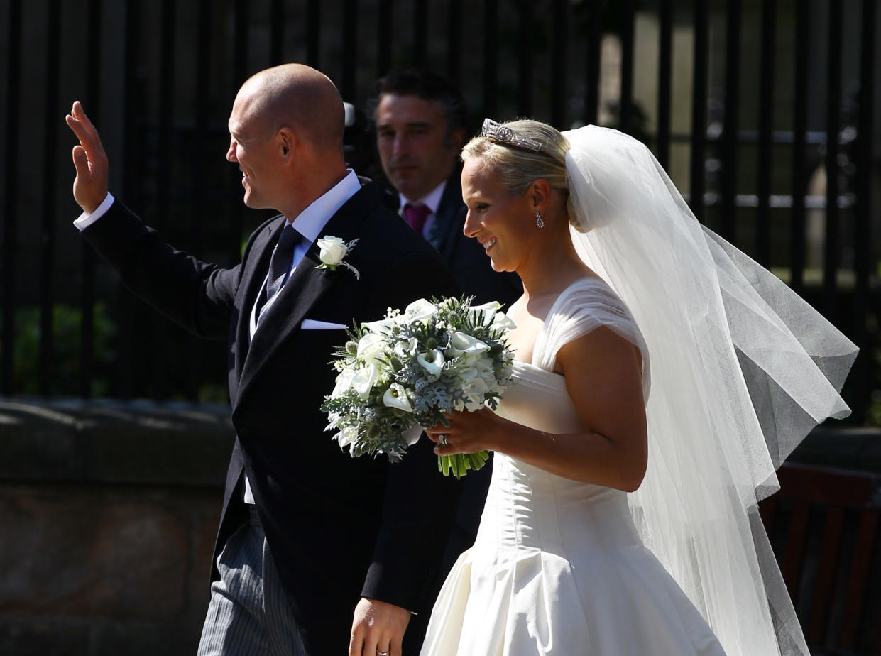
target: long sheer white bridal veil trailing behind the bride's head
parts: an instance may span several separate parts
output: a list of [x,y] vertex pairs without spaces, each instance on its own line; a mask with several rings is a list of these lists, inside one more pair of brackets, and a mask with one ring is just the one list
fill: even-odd
[[849,414],[839,392],[856,347],[702,227],[643,144],[563,134],[575,246],[651,358],[648,473],[629,497],[640,534],[729,656],[807,656],[757,505],[814,425]]

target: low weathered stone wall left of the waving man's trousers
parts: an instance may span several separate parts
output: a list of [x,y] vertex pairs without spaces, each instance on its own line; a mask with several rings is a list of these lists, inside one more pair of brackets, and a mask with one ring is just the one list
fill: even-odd
[[0,653],[196,652],[228,416],[0,399]]

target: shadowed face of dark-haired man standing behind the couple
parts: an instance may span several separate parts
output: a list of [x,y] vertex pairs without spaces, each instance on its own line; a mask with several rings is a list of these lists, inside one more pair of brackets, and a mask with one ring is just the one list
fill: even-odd
[[411,201],[447,180],[462,147],[462,135],[447,136],[441,103],[418,96],[382,96],[376,108],[376,139],[382,169]]

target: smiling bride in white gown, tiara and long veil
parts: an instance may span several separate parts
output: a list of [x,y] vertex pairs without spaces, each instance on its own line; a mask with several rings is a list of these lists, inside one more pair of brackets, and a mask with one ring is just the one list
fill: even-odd
[[496,452],[423,656],[803,654],[757,511],[855,347],[702,228],[645,146],[487,120],[464,230],[523,295],[495,413],[428,431]]

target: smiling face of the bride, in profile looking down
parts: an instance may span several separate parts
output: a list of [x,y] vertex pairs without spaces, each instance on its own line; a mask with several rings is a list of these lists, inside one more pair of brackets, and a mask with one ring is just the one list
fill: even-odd
[[480,242],[492,269],[517,270],[536,236],[529,193],[511,195],[495,168],[482,159],[469,158],[462,169],[462,196],[468,206],[465,236]]

